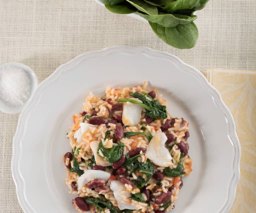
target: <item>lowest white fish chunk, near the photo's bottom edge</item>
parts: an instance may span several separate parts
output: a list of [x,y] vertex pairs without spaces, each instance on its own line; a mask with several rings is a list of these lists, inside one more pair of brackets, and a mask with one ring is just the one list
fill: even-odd
[[127,200],[131,197],[131,193],[127,192],[125,186],[122,184],[119,180],[112,180],[110,183],[110,189],[114,193],[114,197],[117,201],[118,208],[120,210],[123,209],[130,209],[134,210],[136,209],[135,206],[133,206],[131,203],[126,203]]

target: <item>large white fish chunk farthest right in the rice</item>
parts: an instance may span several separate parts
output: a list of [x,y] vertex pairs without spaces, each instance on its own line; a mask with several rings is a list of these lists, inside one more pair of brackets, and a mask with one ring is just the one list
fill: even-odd
[[168,167],[172,164],[172,156],[165,147],[165,133],[157,133],[150,141],[145,156],[158,166]]

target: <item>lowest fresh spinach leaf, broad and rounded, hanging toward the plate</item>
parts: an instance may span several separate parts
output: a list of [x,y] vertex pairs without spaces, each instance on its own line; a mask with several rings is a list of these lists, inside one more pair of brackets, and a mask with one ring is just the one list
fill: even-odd
[[197,43],[198,29],[194,22],[178,24],[176,27],[163,27],[152,22],[149,24],[159,38],[173,47],[190,49]]

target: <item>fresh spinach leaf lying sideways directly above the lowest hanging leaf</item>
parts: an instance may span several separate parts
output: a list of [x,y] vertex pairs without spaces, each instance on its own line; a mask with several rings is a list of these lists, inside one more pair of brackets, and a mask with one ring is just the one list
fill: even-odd
[[152,23],[157,23],[163,27],[176,27],[178,24],[189,24],[197,19],[197,16],[192,14],[190,16],[181,14],[159,14],[149,16],[140,12],[137,13],[146,20]]

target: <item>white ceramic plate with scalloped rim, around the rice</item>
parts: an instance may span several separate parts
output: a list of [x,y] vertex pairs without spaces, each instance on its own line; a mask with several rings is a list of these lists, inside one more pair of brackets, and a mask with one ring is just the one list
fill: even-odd
[[62,154],[72,114],[91,91],[140,85],[148,80],[167,100],[171,115],[190,123],[193,172],[172,213],[228,212],[240,177],[240,146],[234,120],[220,94],[195,68],[177,57],[138,47],[84,53],[61,65],[23,109],[13,139],[12,174],[25,213],[75,213],[64,183]]

